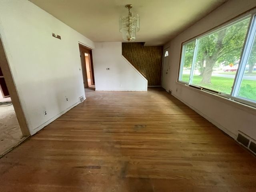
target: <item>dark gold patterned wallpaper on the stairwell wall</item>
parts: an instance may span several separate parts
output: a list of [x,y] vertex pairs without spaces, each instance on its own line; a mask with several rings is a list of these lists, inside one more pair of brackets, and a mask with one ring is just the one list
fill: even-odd
[[148,80],[148,86],[161,84],[163,46],[122,43],[122,55]]

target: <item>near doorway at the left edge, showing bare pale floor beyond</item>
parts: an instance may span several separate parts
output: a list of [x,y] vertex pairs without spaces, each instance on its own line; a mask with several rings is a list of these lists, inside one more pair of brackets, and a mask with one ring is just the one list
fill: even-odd
[[30,135],[0,38],[0,157]]

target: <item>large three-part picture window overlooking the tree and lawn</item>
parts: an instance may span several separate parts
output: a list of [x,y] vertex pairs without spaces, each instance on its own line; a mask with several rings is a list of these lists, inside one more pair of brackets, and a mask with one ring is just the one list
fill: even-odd
[[256,103],[256,16],[182,44],[179,82]]

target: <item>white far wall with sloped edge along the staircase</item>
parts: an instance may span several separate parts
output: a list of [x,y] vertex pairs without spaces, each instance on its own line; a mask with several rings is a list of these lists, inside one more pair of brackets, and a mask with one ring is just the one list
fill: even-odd
[[92,57],[96,90],[147,90],[146,78],[122,56],[122,42],[95,43]]

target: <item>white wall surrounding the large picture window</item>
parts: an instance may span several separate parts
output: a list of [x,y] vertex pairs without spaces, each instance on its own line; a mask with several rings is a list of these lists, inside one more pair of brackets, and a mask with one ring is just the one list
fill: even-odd
[[166,82],[168,89],[172,90],[176,98],[233,138],[236,138],[238,130],[241,130],[256,139],[256,110],[177,83],[180,50],[182,42],[206,32],[254,6],[256,6],[255,0],[230,0],[164,46],[164,48],[170,46],[169,64],[171,69]]

